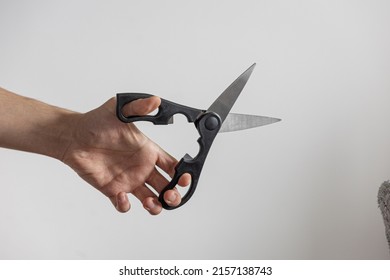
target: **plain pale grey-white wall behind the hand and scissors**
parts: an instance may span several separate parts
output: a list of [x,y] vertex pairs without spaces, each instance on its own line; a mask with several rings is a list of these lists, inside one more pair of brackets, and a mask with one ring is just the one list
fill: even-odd
[[[389,259],[386,0],[0,1],[0,86],[87,112],[118,92],[207,108],[256,62],[182,208],[120,214],[51,158],[0,149],[1,259]],[[1,114],[1,112],[0,112]],[[177,158],[198,134],[139,123]]]

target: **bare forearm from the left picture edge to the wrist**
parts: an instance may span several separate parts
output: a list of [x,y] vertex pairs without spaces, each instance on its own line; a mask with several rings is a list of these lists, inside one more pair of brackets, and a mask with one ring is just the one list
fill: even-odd
[[0,88],[0,147],[57,159],[72,139],[79,114]]

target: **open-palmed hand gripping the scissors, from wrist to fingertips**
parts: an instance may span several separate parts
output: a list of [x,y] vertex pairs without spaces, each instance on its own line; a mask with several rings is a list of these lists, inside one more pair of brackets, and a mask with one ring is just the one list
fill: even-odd
[[[123,113],[147,115],[160,106],[161,99],[154,96],[127,104]],[[116,117],[116,99],[111,98],[99,108],[81,114],[76,122],[72,139],[62,161],[78,175],[106,195],[119,212],[127,212],[130,202],[127,193],[136,196],[152,215],[161,212],[157,196],[168,180],[157,170],[169,176],[175,173],[177,160],[147,138],[133,123],[125,124]],[[189,174],[178,184],[187,186]],[[181,197],[176,189],[164,194],[170,206],[177,206]]]

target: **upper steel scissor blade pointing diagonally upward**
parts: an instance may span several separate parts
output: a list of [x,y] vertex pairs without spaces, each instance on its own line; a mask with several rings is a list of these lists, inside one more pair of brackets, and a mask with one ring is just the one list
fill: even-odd
[[222,123],[225,121],[227,115],[232,109],[246,82],[248,81],[256,63],[249,67],[244,73],[241,74],[224,92],[211,104],[208,111],[217,113]]

